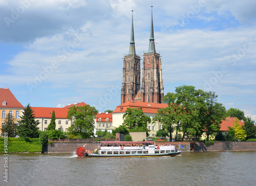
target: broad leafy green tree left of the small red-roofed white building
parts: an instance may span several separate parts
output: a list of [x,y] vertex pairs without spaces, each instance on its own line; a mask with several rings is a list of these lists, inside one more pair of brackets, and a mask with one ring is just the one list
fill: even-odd
[[73,135],[80,135],[82,138],[94,136],[94,120],[97,110],[90,105],[73,106],[69,109],[67,118],[71,120],[69,132]]

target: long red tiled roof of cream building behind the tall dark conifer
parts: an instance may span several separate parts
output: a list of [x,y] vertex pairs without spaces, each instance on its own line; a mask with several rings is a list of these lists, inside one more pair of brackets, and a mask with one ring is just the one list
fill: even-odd
[[52,111],[55,112],[56,118],[67,118],[68,108],[54,108],[54,107],[32,107],[35,118],[51,118]]

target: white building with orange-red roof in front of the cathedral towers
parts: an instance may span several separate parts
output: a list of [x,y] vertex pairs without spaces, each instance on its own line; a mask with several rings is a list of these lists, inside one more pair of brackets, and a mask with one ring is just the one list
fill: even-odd
[[[166,108],[167,104],[160,104],[160,103],[146,103],[146,102],[136,102],[136,101],[128,101],[125,102],[119,106],[116,107],[116,109],[112,112],[113,116],[113,126],[114,127],[119,127],[123,123],[123,114],[125,113],[125,110],[130,107],[130,108],[139,108],[142,109],[143,113],[147,115],[148,117],[153,120],[155,117],[157,111],[161,108]],[[151,130],[148,132],[149,136],[156,136],[156,133],[159,129],[162,129],[162,125],[154,122],[151,122],[150,124],[147,125],[148,130]],[[175,133],[173,133],[173,136]]]

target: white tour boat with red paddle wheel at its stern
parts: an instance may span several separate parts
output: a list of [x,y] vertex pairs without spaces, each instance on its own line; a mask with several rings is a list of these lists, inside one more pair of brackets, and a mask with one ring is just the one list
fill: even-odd
[[[133,144],[142,144],[133,146]],[[98,142],[94,151],[77,148],[78,157],[152,157],[180,154],[174,145],[157,146],[155,142]]]

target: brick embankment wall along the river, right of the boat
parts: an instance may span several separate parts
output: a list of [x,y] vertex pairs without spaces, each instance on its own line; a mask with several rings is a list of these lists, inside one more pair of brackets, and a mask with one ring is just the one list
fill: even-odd
[[206,147],[203,142],[191,142],[191,151],[244,151],[256,150],[256,142],[216,142]]

